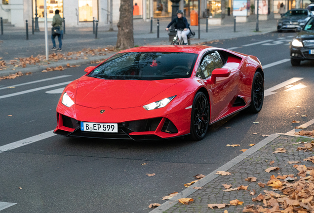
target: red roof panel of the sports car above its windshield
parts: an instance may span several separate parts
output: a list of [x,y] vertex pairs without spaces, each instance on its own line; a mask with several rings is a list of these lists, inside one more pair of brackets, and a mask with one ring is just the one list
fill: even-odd
[[140,47],[134,47],[131,49],[126,49],[121,52],[187,52],[187,53],[196,53],[199,54],[204,49],[216,49],[211,46],[205,46],[205,45],[192,45],[192,46],[186,46],[186,45],[159,45],[159,46],[140,46]]

